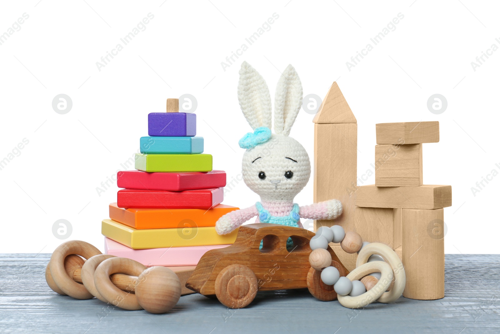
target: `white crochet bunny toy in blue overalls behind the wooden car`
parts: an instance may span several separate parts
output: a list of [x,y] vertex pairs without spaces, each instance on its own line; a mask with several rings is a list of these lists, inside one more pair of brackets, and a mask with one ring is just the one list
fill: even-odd
[[338,217],[342,205],[336,199],[305,206],[293,203],[310,176],[307,152],[288,136],[302,105],[302,84],[295,69],[288,65],[276,86],[275,134],[270,130],[269,89],[260,74],[246,62],[241,64],[239,71],[238,100],[244,117],[254,130],[239,140],[239,146],[246,149],[242,176],[245,184],[260,196],[260,202],[220,217],[215,224],[217,233],[229,233],[254,216],[257,216],[256,223],[293,227],[302,227],[300,218]]

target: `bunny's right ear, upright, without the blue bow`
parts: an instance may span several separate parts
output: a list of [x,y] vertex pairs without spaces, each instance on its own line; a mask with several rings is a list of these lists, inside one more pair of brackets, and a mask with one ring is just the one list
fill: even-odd
[[298,111],[302,106],[302,83],[293,66],[288,65],[278,80],[274,96],[274,132],[290,134]]

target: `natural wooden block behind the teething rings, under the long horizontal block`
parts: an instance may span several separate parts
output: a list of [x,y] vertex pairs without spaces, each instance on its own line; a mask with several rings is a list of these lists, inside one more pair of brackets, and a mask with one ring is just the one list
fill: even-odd
[[387,208],[354,208],[354,221],[349,229],[358,233],[363,241],[380,242],[393,247],[393,209]]

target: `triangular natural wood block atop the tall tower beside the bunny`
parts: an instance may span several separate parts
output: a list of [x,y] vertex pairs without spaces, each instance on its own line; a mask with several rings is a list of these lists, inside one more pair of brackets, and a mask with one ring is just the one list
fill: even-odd
[[349,108],[347,101],[340,92],[340,88],[334,82],[317,114],[312,120],[313,123],[356,123],[356,118]]

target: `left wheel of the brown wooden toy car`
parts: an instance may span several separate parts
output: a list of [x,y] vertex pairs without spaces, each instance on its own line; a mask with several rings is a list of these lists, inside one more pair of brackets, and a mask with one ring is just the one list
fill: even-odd
[[257,277],[245,265],[231,264],[220,270],[215,279],[215,295],[227,307],[248,305],[257,294]]

